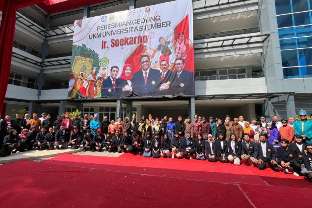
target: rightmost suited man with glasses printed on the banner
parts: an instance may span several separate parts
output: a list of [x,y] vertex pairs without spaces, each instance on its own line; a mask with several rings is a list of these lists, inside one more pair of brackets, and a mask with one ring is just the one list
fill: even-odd
[[178,75],[178,93],[195,94],[194,73],[184,69],[185,61],[183,58],[176,58],[174,66]]

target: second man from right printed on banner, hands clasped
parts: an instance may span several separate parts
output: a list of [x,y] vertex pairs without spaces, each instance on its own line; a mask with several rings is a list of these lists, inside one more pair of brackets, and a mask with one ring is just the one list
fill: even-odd
[[178,75],[177,73],[169,70],[169,62],[162,60],[160,62],[161,72],[159,73],[160,83],[159,95],[175,95],[178,94]]

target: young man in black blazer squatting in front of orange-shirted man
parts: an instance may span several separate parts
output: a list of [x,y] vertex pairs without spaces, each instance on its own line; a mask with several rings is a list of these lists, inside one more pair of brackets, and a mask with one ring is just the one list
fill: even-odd
[[300,163],[299,154],[295,148],[290,148],[287,139],[280,140],[280,147],[276,148],[278,167],[286,173],[288,168],[294,169],[294,175],[299,176]]

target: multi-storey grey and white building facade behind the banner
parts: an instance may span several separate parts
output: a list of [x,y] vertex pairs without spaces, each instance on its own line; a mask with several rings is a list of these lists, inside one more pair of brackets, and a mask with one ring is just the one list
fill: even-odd
[[312,110],[311,0],[193,0],[195,96],[67,100],[75,20],[168,1],[67,0],[19,9],[2,114],[27,109],[56,118],[80,109],[100,120],[133,113],[249,120]]

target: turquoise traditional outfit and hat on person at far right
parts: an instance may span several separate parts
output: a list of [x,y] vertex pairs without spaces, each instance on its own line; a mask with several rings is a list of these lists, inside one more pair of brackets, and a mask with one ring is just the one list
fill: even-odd
[[[298,115],[307,115],[305,110],[300,110]],[[311,120],[299,120],[295,121],[293,128],[295,129],[295,134],[305,135],[306,143],[312,143],[312,121]]]

